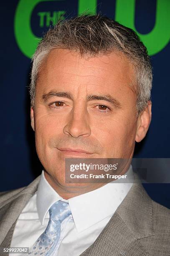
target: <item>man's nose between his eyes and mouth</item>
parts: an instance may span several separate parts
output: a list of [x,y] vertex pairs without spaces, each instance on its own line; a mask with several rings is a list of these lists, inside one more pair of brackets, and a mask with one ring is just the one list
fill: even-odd
[[63,132],[74,138],[79,136],[88,137],[91,134],[89,116],[86,108],[73,108],[68,117],[67,124],[63,128]]

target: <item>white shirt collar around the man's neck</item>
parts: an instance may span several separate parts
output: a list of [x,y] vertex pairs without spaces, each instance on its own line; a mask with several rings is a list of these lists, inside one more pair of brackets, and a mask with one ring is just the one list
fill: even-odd
[[78,232],[113,215],[132,187],[132,165],[130,165],[126,175],[126,183],[120,183],[123,180],[121,178],[119,183],[116,180],[93,191],[64,200],[47,182],[44,171],[42,171],[36,197],[37,212],[41,224],[44,225],[44,219],[49,208],[58,200],[69,202]]

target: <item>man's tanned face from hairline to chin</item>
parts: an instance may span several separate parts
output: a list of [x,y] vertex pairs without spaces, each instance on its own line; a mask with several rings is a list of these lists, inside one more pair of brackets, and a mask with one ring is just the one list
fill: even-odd
[[66,49],[51,50],[38,75],[31,124],[38,157],[54,179],[64,182],[65,158],[132,157],[133,80],[132,64],[123,54],[85,59]]

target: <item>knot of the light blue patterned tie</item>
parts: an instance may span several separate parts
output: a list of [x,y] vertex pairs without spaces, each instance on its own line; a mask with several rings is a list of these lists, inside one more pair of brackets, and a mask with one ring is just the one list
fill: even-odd
[[59,220],[62,222],[71,214],[69,204],[67,202],[62,202],[61,200],[55,202],[51,205],[49,209],[50,219]]

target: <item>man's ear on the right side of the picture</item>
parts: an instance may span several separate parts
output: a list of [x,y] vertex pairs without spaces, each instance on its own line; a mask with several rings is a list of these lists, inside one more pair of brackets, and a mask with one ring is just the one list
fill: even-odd
[[135,141],[140,142],[147,133],[149,129],[151,118],[152,118],[152,102],[148,100],[146,108],[140,113],[137,120],[137,131],[135,136]]

